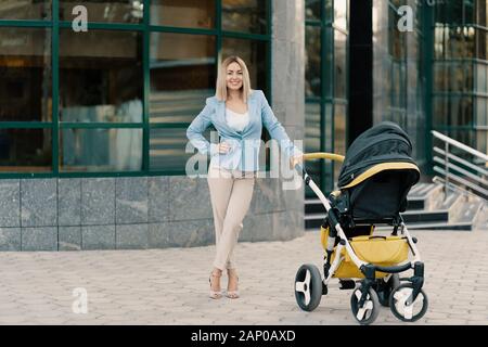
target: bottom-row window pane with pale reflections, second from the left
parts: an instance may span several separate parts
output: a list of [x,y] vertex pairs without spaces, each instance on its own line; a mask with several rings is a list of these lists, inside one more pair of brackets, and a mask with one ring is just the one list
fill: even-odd
[[62,129],[62,171],[139,171],[142,129]]

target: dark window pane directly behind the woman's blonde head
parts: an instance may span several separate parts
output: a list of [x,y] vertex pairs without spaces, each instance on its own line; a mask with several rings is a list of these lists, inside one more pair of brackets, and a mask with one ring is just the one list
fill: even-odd
[[244,60],[249,70],[251,88],[268,91],[268,42],[224,37],[222,59],[229,55],[239,55]]

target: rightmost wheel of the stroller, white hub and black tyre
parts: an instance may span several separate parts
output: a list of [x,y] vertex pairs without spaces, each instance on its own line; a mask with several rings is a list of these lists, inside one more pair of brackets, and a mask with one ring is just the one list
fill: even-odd
[[415,301],[408,303],[413,292],[411,283],[401,284],[389,296],[389,309],[396,318],[403,322],[414,322],[421,319],[428,307],[427,295],[420,291]]

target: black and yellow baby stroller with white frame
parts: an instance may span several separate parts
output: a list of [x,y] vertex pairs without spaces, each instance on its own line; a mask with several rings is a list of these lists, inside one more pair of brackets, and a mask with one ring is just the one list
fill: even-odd
[[[326,198],[306,170],[307,185],[318,195],[326,215],[321,226],[324,248],[323,277],[313,265],[301,266],[295,277],[295,298],[306,311],[316,309],[326,295],[332,279],[339,290],[354,290],[350,308],[360,324],[377,318],[380,305],[390,308],[404,322],[422,318],[428,306],[422,290],[424,264],[415,247],[418,240],[407,230],[400,213],[407,209],[407,194],[420,179],[411,158],[412,143],[396,124],[385,121],[359,136],[346,156],[305,154],[304,159],[343,162],[338,191]],[[386,226],[387,236],[373,235]],[[409,259],[409,249],[413,259]],[[410,278],[399,273],[413,269]]]

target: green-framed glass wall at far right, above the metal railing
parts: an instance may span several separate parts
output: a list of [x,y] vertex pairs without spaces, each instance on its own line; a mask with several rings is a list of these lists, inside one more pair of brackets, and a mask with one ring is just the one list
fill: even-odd
[[[484,9],[478,9],[479,5]],[[486,151],[486,141],[478,142],[476,139],[486,137],[488,130],[486,126],[488,121],[486,111],[488,102],[486,86],[488,78],[487,10],[488,2],[480,0],[438,3],[433,10],[434,14],[429,23],[434,69],[429,72],[432,92],[428,99],[432,108],[427,110],[432,114],[432,128],[459,141],[464,141],[467,145],[480,151]],[[448,40],[452,33],[458,34],[457,41],[452,38]],[[464,54],[461,54],[460,51]],[[452,88],[450,79],[453,74],[451,72],[455,70],[459,74],[460,69],[457,69],[455,66],[460,65],[463,66],[463,86],[462,88]],[[439,76],[439,73],[445,77]],[[458,117],[453,118],[449,107],[458,100],[463,102],[460,106],[462,112],[461,116],[458,113]],[[446,110],[445,114],[436,113],[439,110]],[[432,143],[432,139],[429,139],[429,143]]]

